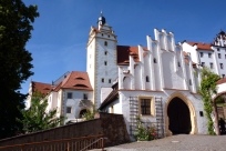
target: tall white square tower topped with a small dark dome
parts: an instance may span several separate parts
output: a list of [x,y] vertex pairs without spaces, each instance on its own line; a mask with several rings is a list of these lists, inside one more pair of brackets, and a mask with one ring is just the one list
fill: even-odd
[[96,108],[101,104],[101,88],[110,88],[117,78],[116,44],[116,36],[101,12],[97,28],[91,27],[86,46],[86,72]]

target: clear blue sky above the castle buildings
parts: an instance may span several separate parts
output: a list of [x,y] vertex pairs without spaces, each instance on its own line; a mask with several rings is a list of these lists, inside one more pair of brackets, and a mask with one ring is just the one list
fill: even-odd
[[22,83],[27,93],[32,81],[51,83],[66,71],[85,71],[86,42],[100,11],[113,27],[121,46],[146,46],[154,28],[174,32],[176,42],[212,42],[226,31],[224,0],[23,0],[37,4],[27,50],[32,53],[34,76]]

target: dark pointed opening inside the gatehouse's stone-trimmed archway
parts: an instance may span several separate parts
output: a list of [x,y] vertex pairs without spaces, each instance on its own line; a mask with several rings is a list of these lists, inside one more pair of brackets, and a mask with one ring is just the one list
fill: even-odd
[[167,108],[168,130],[173,134],[188,134],[192,130],[191,113],[187,104],[179,98],[174,98]]

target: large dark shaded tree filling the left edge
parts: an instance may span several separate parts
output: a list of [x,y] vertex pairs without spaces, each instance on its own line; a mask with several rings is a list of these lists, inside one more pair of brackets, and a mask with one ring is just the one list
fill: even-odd
[[21,83],[31,72],[31,53],[25,43],[31,38],[31,23],[39,17],[35,6],[21,0],[0,0],[0,139],[17,134],[27,94],[20,93]]

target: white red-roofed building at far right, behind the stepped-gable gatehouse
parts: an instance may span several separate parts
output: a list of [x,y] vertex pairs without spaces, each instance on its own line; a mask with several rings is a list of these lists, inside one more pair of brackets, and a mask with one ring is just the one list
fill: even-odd
[[220,31],[213,43],[184,41],[183,50],[191,54],[192,61],[204,64],[224,78],[226,76],[226,34]]

